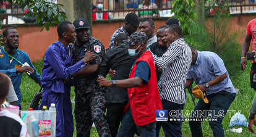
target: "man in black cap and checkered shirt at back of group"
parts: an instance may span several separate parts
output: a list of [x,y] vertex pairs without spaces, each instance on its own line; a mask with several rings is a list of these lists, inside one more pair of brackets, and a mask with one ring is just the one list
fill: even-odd
[[126,15],[125,17],[125,24],[122,25],[121,28],[118,28],[116,31],[114,31],[113,35],[111,36],[110,42],[109,42],[109,48],[114,48],[114,38],[116,38],[116,35],[119,33],[125,33],[127,36],[132,35],[135,31],[137,31],[140,22],[139,17],[134,12],[131,12]]

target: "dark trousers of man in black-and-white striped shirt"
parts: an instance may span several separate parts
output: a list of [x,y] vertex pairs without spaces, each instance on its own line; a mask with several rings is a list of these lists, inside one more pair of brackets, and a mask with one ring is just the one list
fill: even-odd
[[[169,112],[171,110],[183,110],[184,109],[184,104],[177,104],[171,101],[168,101],[166,99],[161,99],[162,105],[163,105],[163,110],[168,110],[168,121],[167,122],[157,122],[156,123],[156,136],[159,136],[160,129],[163,127],[164,135],[168,137],[176,137],[176,136],[182,136],[181,133],[181,128],[182,128],[182,120],[181,121],[170,121],[169,119],[171,118],[169,116]],[[176,118],[181,118],[180,115],[179,117]]]

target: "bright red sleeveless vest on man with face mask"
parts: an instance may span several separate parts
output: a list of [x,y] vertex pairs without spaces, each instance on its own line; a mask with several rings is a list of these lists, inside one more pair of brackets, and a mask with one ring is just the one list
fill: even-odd
[[132,117],[138,126],[147,125],[156,121],[156,110],[162,110],[162,103],[156,80],[155,61],[150,51],[146,51],[135,62],[129,78],[134,78],[137,63],[145,61],[150,67],[150,80],[147,85],[143,83],[135,88],[128,88],[129,103],[125,112],[132,110]]

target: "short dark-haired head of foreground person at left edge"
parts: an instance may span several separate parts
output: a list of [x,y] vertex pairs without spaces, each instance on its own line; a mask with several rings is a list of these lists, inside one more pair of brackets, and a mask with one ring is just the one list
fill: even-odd
[[5,73],[0,72],[0,99],[6,98],[9,93],[10,80]]

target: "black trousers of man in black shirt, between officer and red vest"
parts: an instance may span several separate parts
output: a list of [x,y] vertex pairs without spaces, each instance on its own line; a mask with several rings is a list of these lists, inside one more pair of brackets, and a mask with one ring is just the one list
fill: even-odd
[[120,122],[122,120],[122,117],[124,117],[124,108],[126,107],[126,104],[127,103],[121,102],[107,104],[106,118],[112,137],[115,137],[117,135]]

